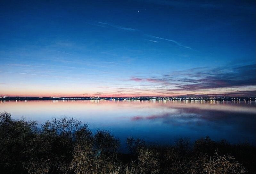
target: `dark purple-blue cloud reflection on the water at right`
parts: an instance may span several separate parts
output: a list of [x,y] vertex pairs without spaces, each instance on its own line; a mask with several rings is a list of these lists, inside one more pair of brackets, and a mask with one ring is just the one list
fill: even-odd
[[256,117],[252,113],[223,112],[217,110],[202,110],[198,108],[180,108],[176,112],[166,112],[148,116],[134,116],[133,121],[160,121],[172,126],[210,126],[210,127],[234,127],[238,130],[256,131]]

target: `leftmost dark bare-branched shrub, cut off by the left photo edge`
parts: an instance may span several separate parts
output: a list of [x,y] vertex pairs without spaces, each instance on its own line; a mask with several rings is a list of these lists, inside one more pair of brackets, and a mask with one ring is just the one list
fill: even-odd
[[28,141],[36,136],[37,123],[28,120],[13,120],[11,114],[0,113],[0,169],[5,173],[23,170],[27,156]]

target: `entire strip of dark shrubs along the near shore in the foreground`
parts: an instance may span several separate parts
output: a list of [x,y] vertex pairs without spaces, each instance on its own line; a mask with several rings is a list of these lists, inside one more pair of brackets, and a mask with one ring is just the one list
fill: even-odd
[[154,174],[255,173],[254,146],[229,144],[209,137],[193,143],[147,146],[143,139],[127,138],[130,154],[119,153],[119,139],[109,132],[93,134],[73,118],[14,120],[0,114],[0,173]]

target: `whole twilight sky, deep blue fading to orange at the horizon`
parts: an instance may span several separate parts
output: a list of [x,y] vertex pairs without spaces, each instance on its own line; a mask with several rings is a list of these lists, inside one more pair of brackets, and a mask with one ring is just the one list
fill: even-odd
[[256,96],[255,1],[0,2],[0,96]]

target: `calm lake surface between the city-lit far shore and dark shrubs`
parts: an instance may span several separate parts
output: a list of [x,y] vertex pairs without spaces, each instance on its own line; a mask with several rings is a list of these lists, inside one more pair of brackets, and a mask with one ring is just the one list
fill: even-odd
[[52,117],[75,117],[93,131],[110,130],[121,142],[130,135],[160,144],[209,135],[255,145],[256,137],[255,101],[0,101],[2,111],[39,125]]

